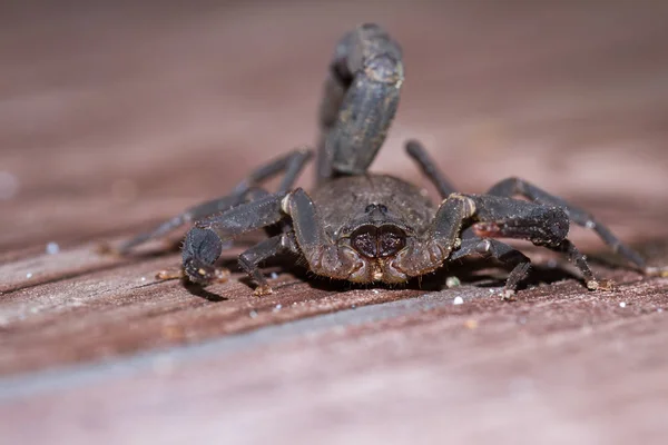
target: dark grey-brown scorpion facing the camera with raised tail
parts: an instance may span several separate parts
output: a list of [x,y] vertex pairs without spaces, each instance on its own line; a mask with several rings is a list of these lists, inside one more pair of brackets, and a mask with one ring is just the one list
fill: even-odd
[[[383,28],[365,23],[347,32],[328,67],[320,107],[316,185],[310,192],[294,185],[314,152],[297,149],[250,172],[229,195],[191,207],[118,250],[126,254],[194,224],[183,245],[180,273],[207,285],[229,277],[215,265],[225,246],[264,229],[266,239],[238,256],[258,296],[273,291],[259,265],[282,253],[294,254],[317,276],[387,285],[475,255],[508,266],[501,296],[511,298],[531,266],[525,255],[499,240],[511,238],[564,254],[587,288],[609,288],[569,240],[574,222],[596,231],[640,273],[668,275],[648,267],[592,215],[520,178],[504,179],[482,195],[458,191],[418,140],[409,140],[405,150],[438,190],[439,205],[412,184],[369,172],[394,119],[403,81],[402,49]],[[283,177],[275,191],[263,187],[278,175]]]

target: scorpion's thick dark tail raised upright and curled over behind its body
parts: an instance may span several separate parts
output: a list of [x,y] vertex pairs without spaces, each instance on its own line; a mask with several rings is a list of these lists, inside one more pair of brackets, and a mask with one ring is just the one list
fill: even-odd
[[401,47],[377,24],[341,39],[320,110],[318,184],[366,172],[396,113],[403,80]]

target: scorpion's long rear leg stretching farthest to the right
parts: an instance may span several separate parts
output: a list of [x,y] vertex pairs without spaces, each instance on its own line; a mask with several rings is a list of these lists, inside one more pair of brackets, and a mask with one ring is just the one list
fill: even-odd
[[504,179],[493,186],[488,194],[505,197],[523,196],[534,202],[560,207],[568,214],[573,222],[596,231],[603,243],[610,246],[616,254],[621,255],[642,273],[648,275],[668,275],[668,270],[647,267],[647,264],[640,254],[621,243],[609,228],[600,224],[591,214],[572,206],[561,198],[548,194],[525,180],[520,178]]

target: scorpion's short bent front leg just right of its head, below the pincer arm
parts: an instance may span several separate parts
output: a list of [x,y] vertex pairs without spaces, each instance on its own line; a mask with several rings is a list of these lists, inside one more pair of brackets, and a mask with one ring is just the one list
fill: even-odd
[[503,298],[510,298],[515,293],[518,285],[527,278],[529,269],[531,268],[531,260],[524,254],[497,239],[462,239],[462,245],[452,253],[449,260],[452,261],[469,255],[481,255],[483,258],[497,258],[504,265],[512,267],[512,270],[505,280],[502,293]]

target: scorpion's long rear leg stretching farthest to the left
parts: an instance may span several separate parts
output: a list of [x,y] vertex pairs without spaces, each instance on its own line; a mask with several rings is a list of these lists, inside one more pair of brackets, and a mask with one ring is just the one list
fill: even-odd
[[258,189],[255,188],[256,185],[278,175],[281,171],[285,171],[285,176],[278,187],[278,191],[287,191],[289,188],[292,188],[297,176],[312,155],[313,154],[311,150],[302,149],[291,151],[285,156],[274,159],[269,161],[269,164],[256,169],[248,176],[248,178],[240,181],[234,188],[230,195],[190,207],[183,214],[179,214],[167,221],[159,224],[153,230],[139,234],[136,237],[121,243],[120,246],[116,248],[116,251],[119,254],[127,254],[131,248],[150,239],[159,238],[188,222],[196,221],[219,211],[225,211],[232,207],[238,206],[242,202],[266,195],[266,192],[258,194]]

